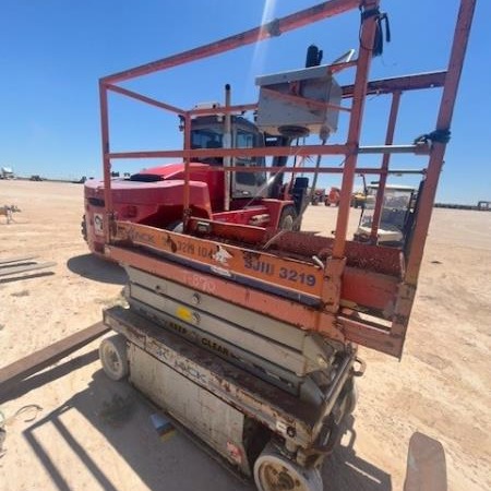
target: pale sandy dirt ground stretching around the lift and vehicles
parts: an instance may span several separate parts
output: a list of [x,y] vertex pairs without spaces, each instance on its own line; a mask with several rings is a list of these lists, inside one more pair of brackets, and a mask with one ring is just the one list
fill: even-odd
[[[11,225],[0,217],[0,259],[57,263],[0,283],[0,366],[99,321],[120,294],[124,273],[81,238],[82,195],[80,184],[0,181],[0,204],[22,209]],[[334,214],[310,207],[303,228],[330,231]],[[435,209],[403,360],[361,350],[359,405],[324,465],[326,490],[400,490],[417,430],[442,442],[451,490],[491,489],[490,278],[491,213]],[[185,436],[161,441],[154,409],[104,375],[97,346],[0,394],[1,491],[254,489]],[[39,409],[15,417],[26,405]]]

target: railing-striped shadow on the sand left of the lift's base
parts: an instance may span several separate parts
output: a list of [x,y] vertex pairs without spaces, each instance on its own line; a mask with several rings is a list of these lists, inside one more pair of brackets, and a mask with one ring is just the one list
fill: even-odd
[[[71,456],[71,476],[92,476],[87,489],[124,491],[142,482],[144,489],[166,491],[255,489],[227,472],[183,434],[176,432],[163,441],[152,424],[154,412],[155,408],[128,383],[112,382],[99,370],[86,390],[36,421],[23,435],[49,475],[53,490],[81,489],[80,482],[70,482],[67,462],[60,464],[61,453]],[[79,427],[81,418],[93,428]],[[125,460],[124,468],[115,471],[105,466],[108,462],[113,466],[117,460],[108,454],[109,450],[99,453],[95,444],[99,438],[94,431]],[[49,444],[47,432],[49,440],[58,442],[57,448]],[[127,487],[121,486],[122,476]]]

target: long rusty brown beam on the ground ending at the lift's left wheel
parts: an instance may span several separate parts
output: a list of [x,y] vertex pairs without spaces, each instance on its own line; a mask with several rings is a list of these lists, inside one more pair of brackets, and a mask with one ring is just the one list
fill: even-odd
[[56,363],[92,340],[97,339],[108,331],[109,327],[107,325],[103,322],[98,322],[3,367],[0,369],[0,390],[4,390],[7,385],[19,382],[26,376]]

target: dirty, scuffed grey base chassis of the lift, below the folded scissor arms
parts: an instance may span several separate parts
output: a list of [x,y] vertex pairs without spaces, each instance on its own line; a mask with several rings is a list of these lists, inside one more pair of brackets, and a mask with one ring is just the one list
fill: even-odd
[[[289,475],[312,482],[307,489],[322,489],[318,468],[356,404],[354,376],[361,374],[356,351],[338,358],[319,402],[301,400],[131,310],[109,309],[105,323],[128,342],[125,355],[116,359],[131,367],[131,383],[244,476],[252,476],[268,444],[268,452],[274,448],[289,463],[283,464],[291,467]],[[172,328],[185,330],[176,323]]]

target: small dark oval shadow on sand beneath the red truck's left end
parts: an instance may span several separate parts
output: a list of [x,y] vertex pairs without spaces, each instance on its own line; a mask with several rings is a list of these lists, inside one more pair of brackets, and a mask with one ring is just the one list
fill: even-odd
[[121,266],[110,261],[101,260],[94,254],[70,258],[67,261],[67,266],[72,273],[94,282],[115,285],[124,285],[127,283],[127,274]]

